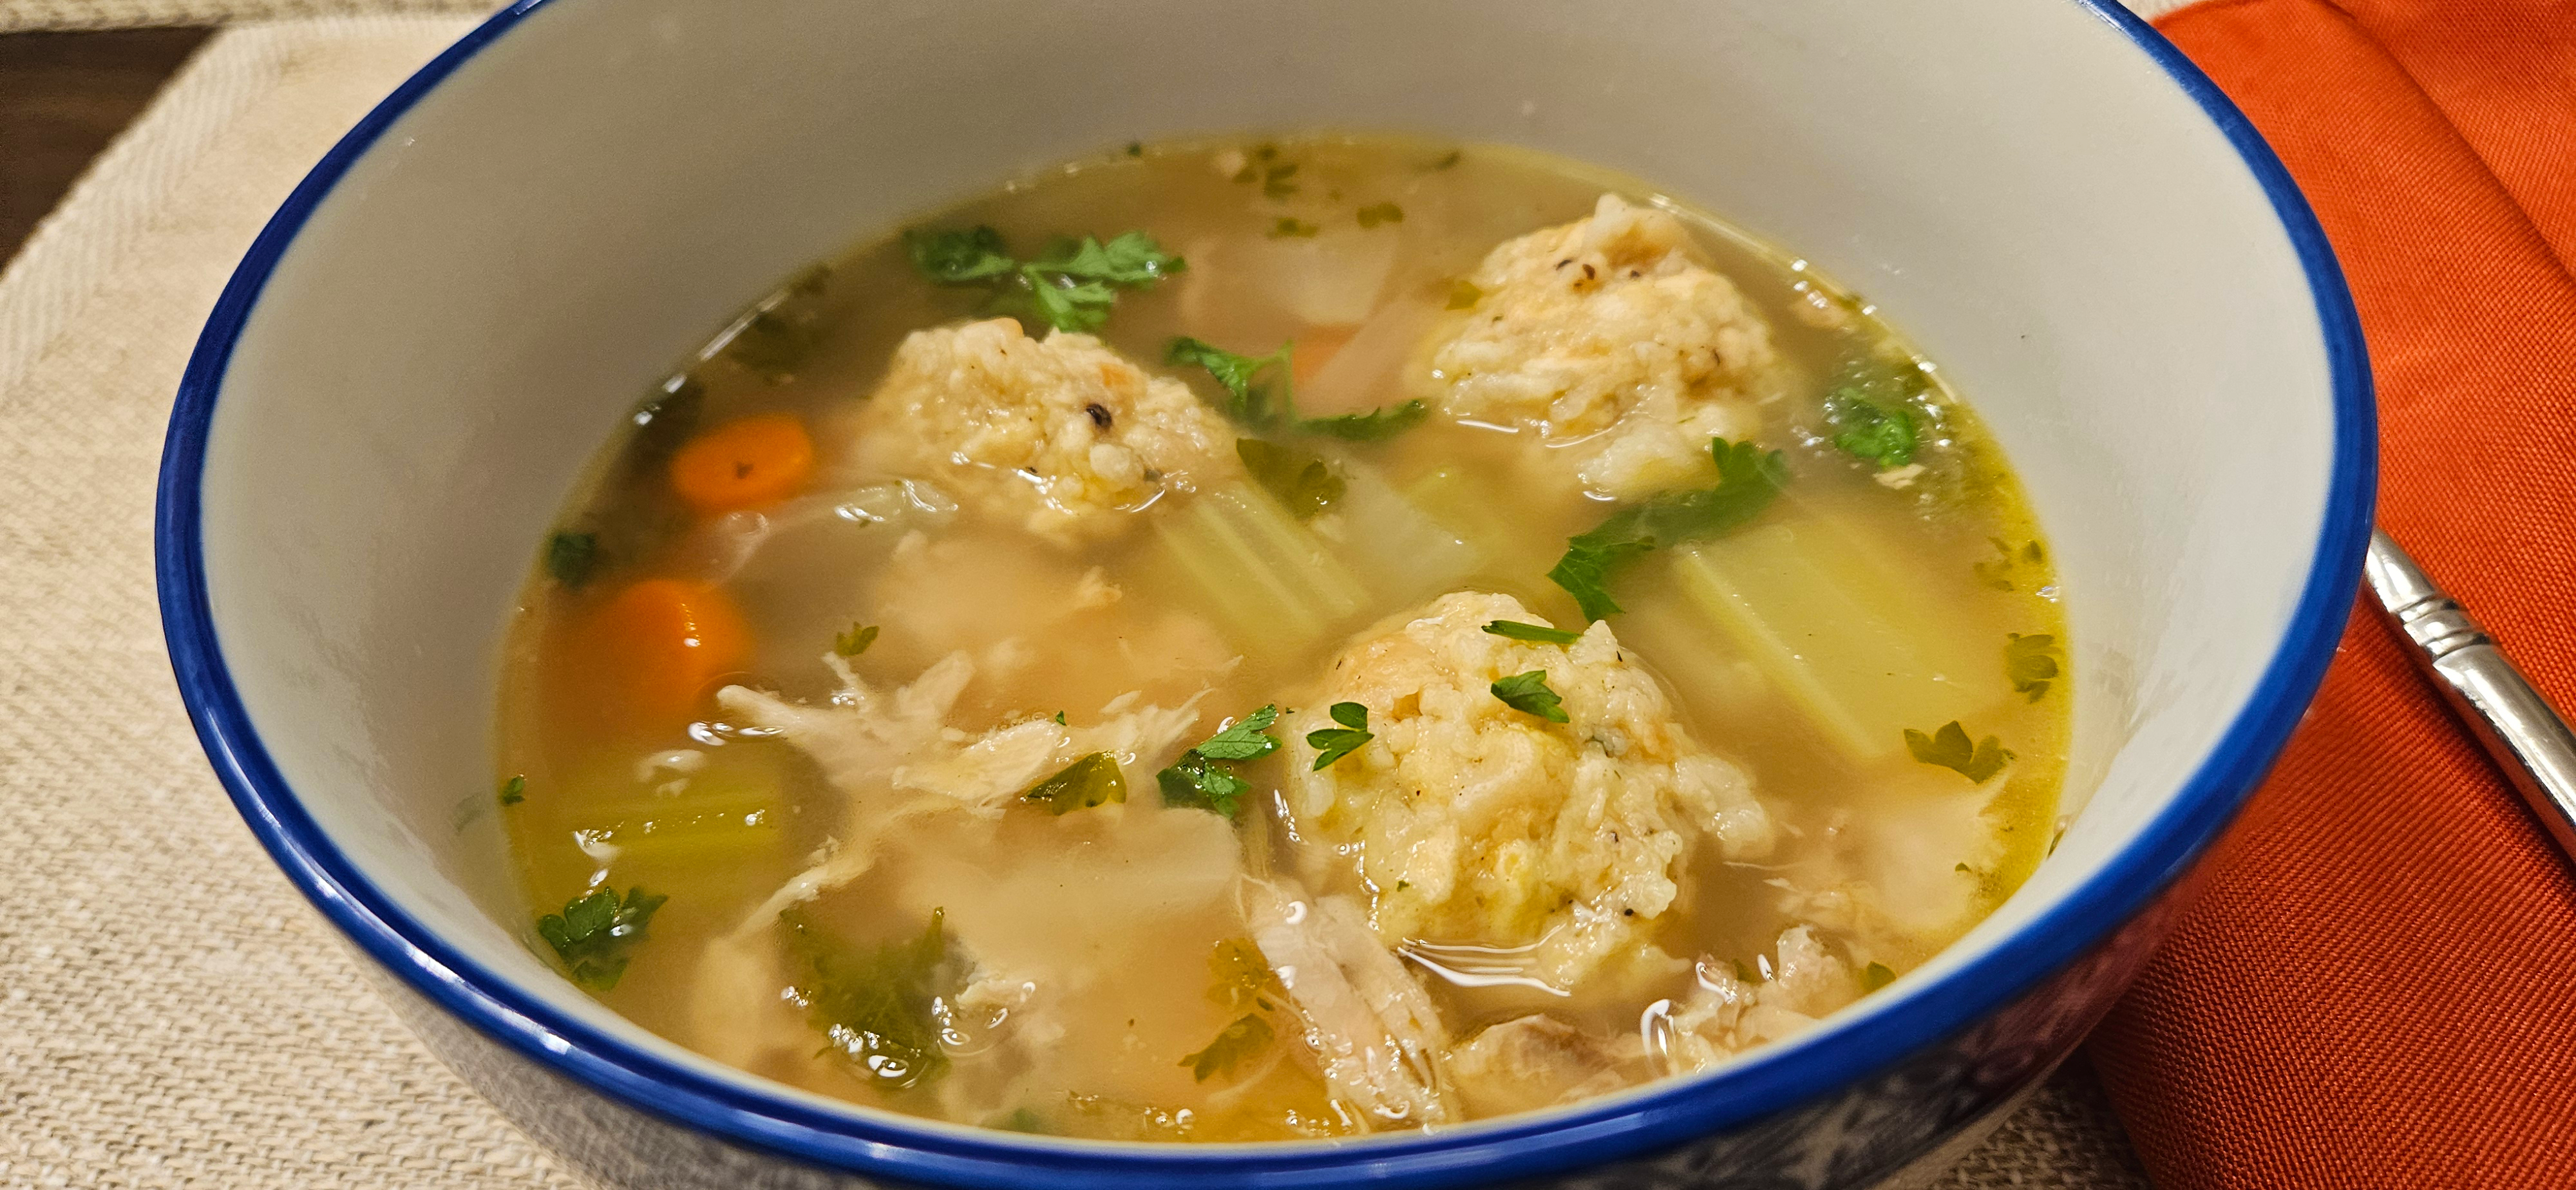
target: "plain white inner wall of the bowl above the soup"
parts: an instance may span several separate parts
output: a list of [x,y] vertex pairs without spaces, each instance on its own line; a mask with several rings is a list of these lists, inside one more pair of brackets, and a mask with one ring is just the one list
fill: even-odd
[[2275,659],[2326,525],[2334,376],[2239,149],[2069,0],[538,5],[314,193],[216,373],[214,644],[319,845],[474,979],[757,1082],[515,940],[487,811],[497,636],[585,456],[726,314],[858,234],[1128,139],[1314,126],[1649,178],[1868,294],[1950,371],[2058,546],[2084,809],[1862,1012],[1932,1010],[1942,974],[2040,922],[2107,927],[2050,914]]

